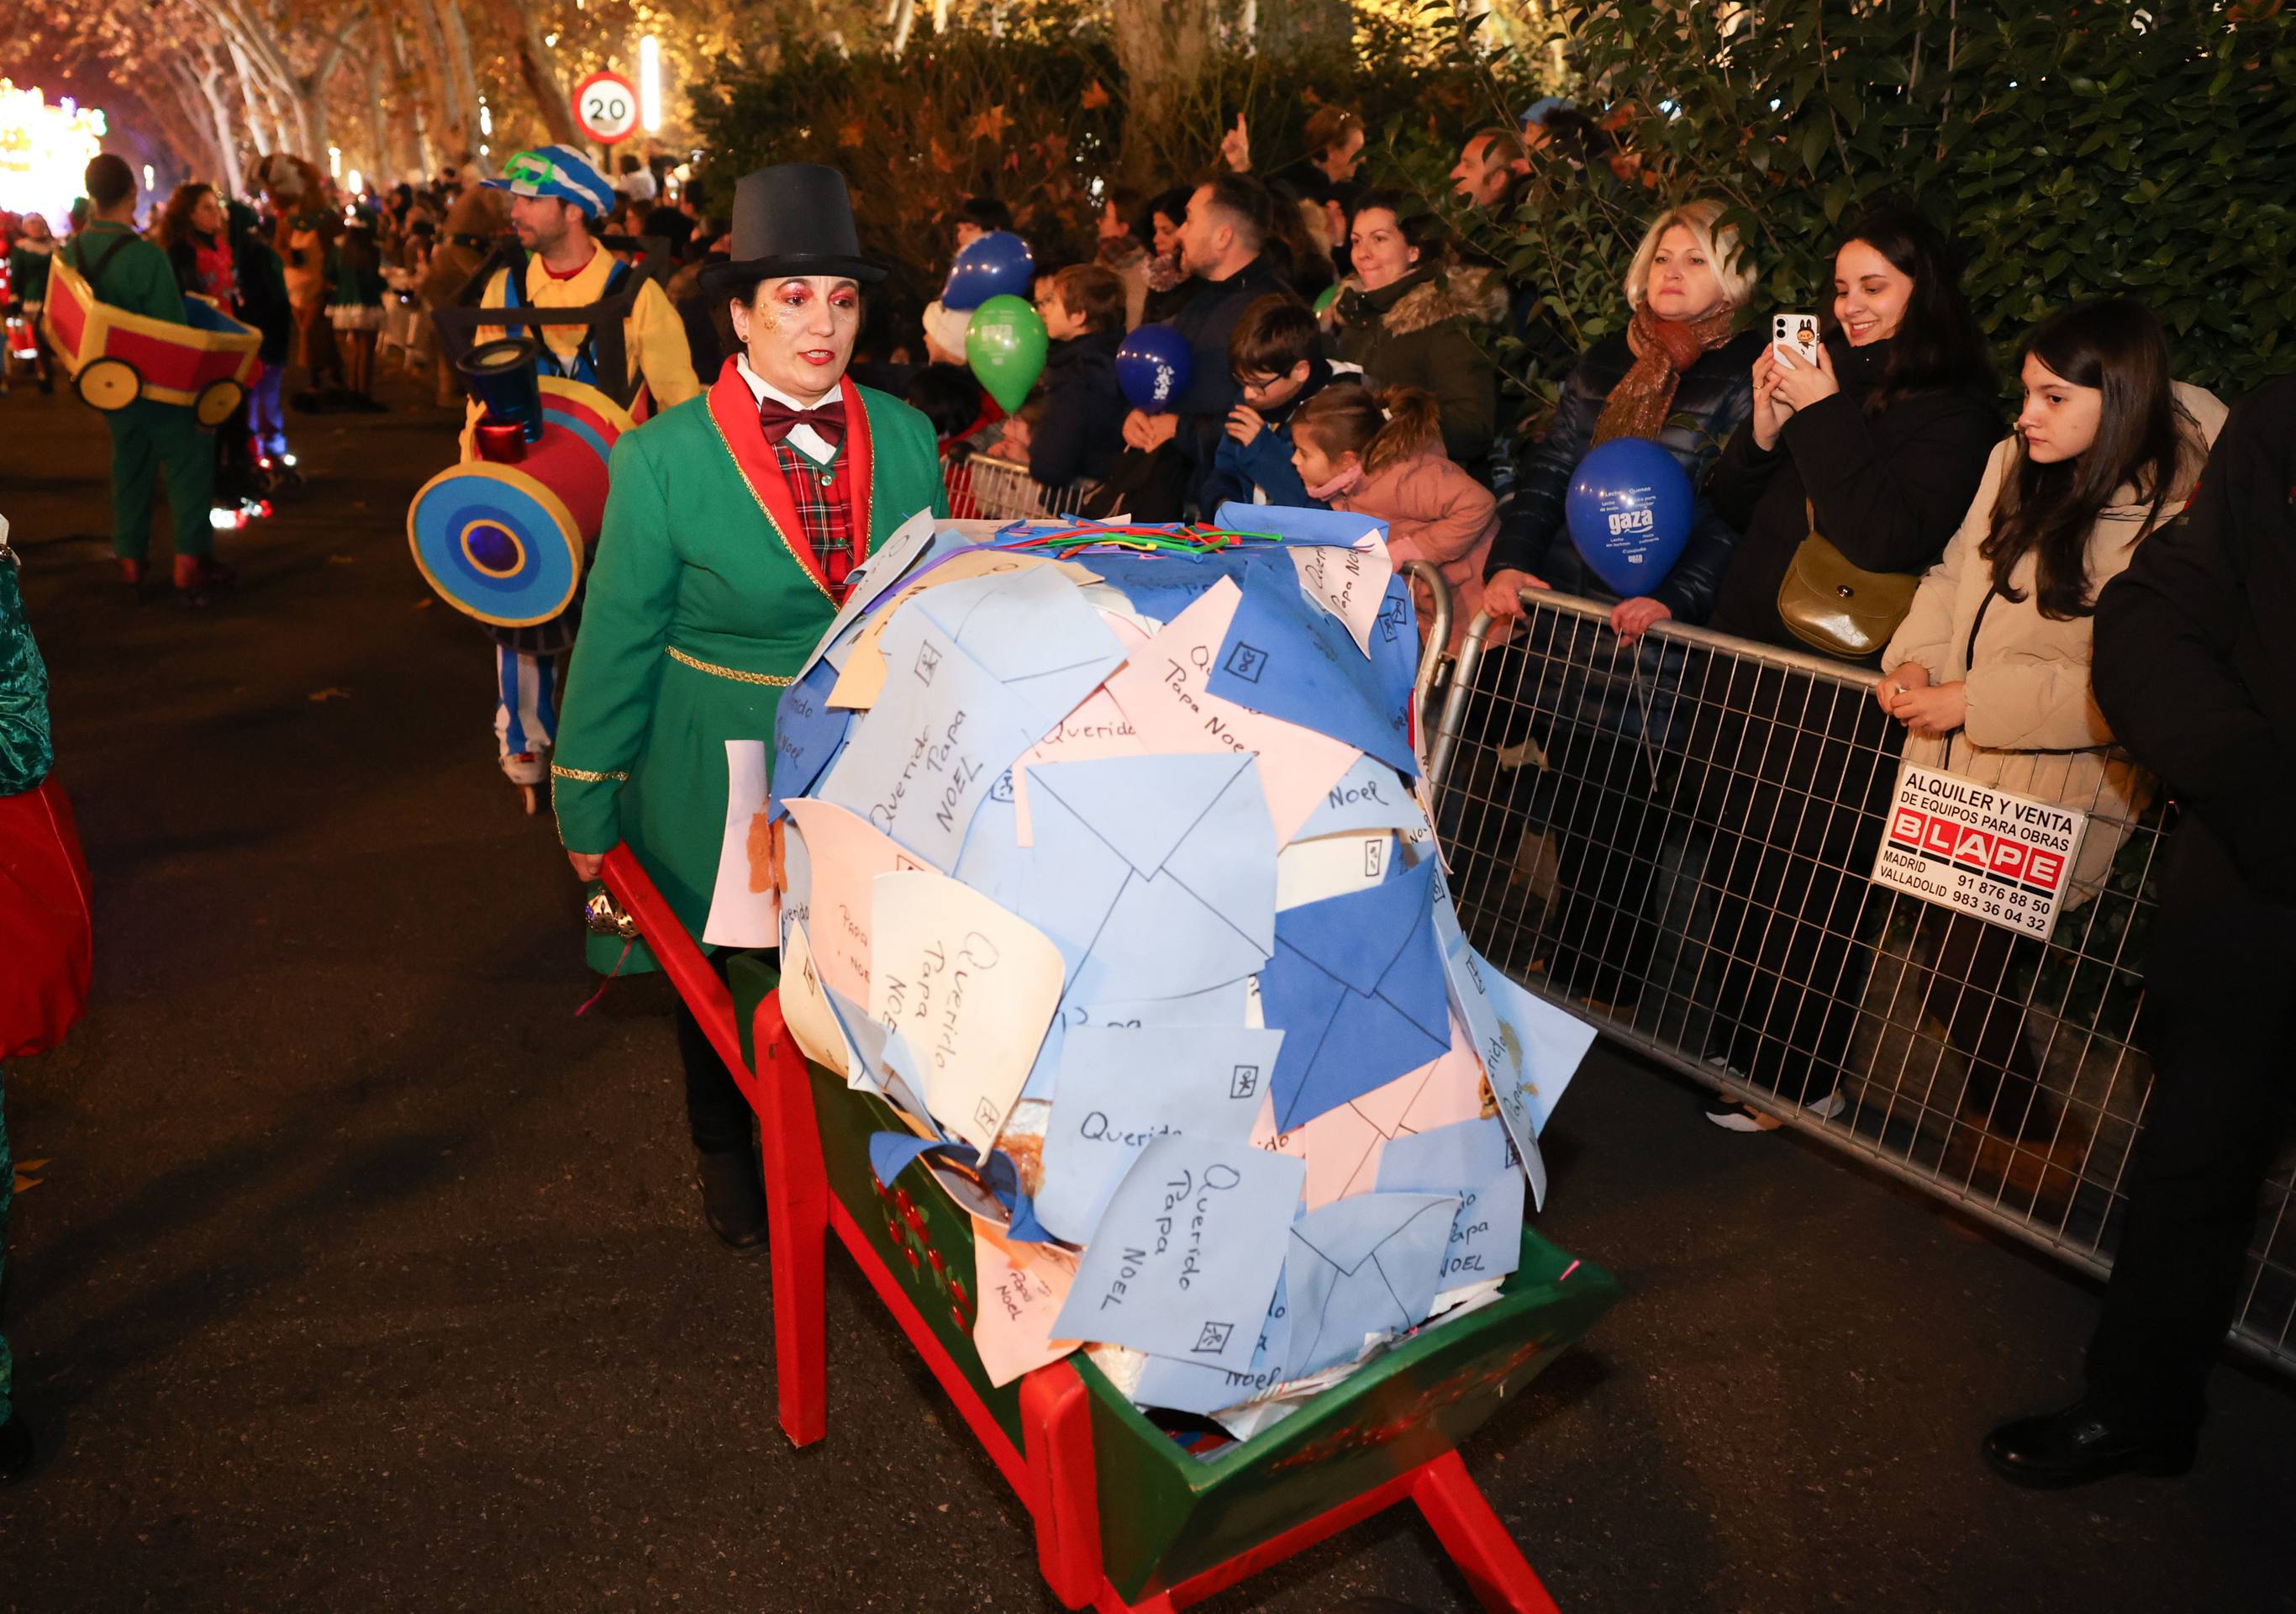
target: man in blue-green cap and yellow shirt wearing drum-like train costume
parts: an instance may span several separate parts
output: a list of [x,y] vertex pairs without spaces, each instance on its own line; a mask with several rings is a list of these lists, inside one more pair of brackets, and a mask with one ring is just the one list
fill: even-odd
[[[636,271],[602,248],[592,225],[613,209],[613,186],[563,145],[519,152],[503,165],[501,179],[484,181],[489,191],[510,193],[510,227],[526,248],[526,264],[498,269],[487,280],[482,308],[588,308],[615,296]],[[528,326],[519,335],[540,337],[542,374],[567,377],[599,386],[592,331],[581,324]],[[661,287],[645,282],[622,321],[622,351],[629,356],[629,388],[636,388],[629,413],[645,420],[647,409],[670,409],[700,395],[687,328]],[[620,397],[615,377],[604,390]],[[478,418],[478,404],[471,418]],[[468,457],[468,445],[466,445]],[[503,774],[533,794],[549,767],[556,730],[558,654],[574,638],[579,604],[565,615],[537,627],[491,629],[496,705],[494,737]]]

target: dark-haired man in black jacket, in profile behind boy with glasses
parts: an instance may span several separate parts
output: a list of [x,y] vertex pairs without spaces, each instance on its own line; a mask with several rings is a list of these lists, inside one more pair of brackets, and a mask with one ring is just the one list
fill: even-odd
[[1274,234],[1274,200],[1267,186],[1244,174],[1215,174],[1187,200],[1187,223],[1180,225],[1180,266],[1203,282],[1203,289],[1171,317],[1173,331],[1187,337],[1196,367],[1171,409],[1150,416],[1134,409],[1125,416],[1125,443],[1155,452],[1166,443],[1187,461],[1192,496],[1212,475],[1212,455],[1242,390],[1228,374],[1228,337],[1254,298],[1288,292],[1274,264],[1261,257]]

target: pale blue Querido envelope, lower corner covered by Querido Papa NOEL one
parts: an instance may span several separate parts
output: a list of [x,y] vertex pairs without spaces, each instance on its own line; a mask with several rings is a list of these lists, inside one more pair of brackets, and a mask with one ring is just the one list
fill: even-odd
[[1088,1244],[1116,1185],[1157,1136],[1247,1143],[1281,1045],[1281,1031],[1240,1024],[1072,1026],[1045,1123],[1042,1224]]

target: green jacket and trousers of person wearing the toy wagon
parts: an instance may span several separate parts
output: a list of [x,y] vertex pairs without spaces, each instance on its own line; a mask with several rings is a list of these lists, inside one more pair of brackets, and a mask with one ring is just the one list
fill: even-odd
[[[113,243],[126,236],[126,243]],[[184,324],[184,294],[174,285],[168,255],[126,225],[94,223],[64,248],[71,266],[87,276],[87,289],[113,308]],[[94,266],[101,276],[92,273]],[[142,560],[152,549],[152,484],[168,478],[168,514],[174,553],[204,556],[216,546],[207,510],[216,498],[216,441],[200,429],[184,404],[138,397],[103,416],[113,432],[113,553]]]

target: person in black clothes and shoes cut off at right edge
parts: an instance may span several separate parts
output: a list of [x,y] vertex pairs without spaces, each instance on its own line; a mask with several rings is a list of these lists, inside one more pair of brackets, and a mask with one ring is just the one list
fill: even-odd
[[2087,1389],[1986,1435],[2023,1485],[2193,1465],[2257,1192],[2291,1091],[2296,866],[2296,377],[2241,404],[2183,519],[2096,604],[2096,703],[2177,794],[2144,973],[2151,1111],[2128,1157]]

